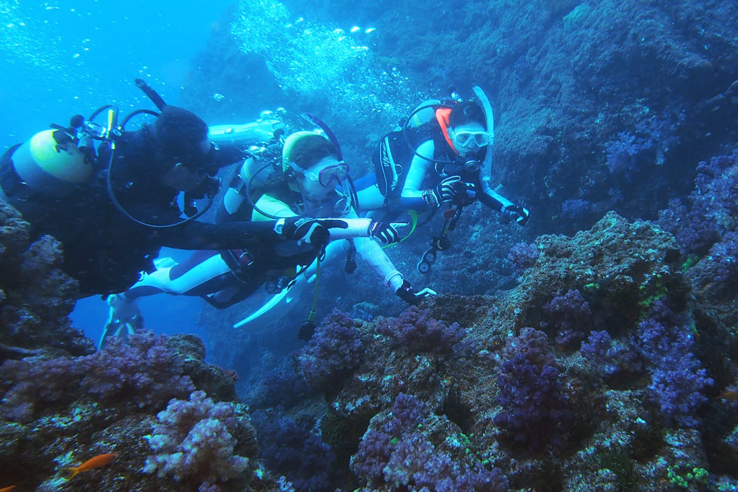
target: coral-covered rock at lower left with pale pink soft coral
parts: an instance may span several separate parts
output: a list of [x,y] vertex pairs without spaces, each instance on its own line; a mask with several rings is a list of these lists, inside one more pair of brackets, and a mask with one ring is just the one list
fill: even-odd
[[[191,336],[144,332],[130,342],[89,356],[32,356],[0,366],[4,479],[56,490],[61,468],[115,452],[111,464],[75,477],[75,489],[128,491],[141,483],[158,491],[278,490],[256,460],[244,406],[207,398],[205,391],[222,394],[229,386],[232,395],[233,380],[207,368],[204,350],[182,350],[197,347]],[[200,378],[204,373],[211,377]]]

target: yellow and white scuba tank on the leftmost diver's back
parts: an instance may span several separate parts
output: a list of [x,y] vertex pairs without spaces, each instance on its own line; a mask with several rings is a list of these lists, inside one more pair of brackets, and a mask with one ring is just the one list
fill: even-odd
[[93,167],[71,139],[58,143],[54,138],[57,131],[35,134],[13,152],[12,160],[15,173],[28,187],[61,198],[89,181]]

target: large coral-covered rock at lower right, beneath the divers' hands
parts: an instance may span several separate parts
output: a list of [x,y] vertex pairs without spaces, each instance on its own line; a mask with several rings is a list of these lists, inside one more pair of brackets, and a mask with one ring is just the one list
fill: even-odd
[[[493,474],[487,488],[457,483],[469,491],[507,490],[506,481],[535,491],[735,487],[725,467],[736,461],[714,457],[738,417],[708,398],[714,360],[700,333],[710,325],[674,236],[610,212],[588,231],[535,244],[536,263],[510,291],[439,297],[356,325],[364,356],[321,391],[338,462],[351,457],[360,490],[420,488],[444,467],[452,480]],[[557,342],[562,330],[581,333],[587,350]],[[410,342],[423,333],[448,334]],[[603,352],[605,335],[617,350]],[[432,417],[396,429],[408,398]],[[437,484],[428,490],[453,490]]]

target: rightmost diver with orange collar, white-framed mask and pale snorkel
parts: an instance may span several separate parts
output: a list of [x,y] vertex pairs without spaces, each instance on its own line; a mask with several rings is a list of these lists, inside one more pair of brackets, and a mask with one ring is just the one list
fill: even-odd
[[503,221],[523,226],[530,218],[528,209],[489,184],[494,115],[486,94],[475,86],[477,100],[463,100],[455,89],[450,91],[449,98],[418,105],[404,124],[384,136],[372,157],[375,180],[356,184],[360,208],[376,209],[382,203],[390,219],[407,209],[432,216],[442,204],[449,204],[444,229],[432,238],[418,263],[421,273],[430,271],[437,252],[449,249],[448,232],[463,207],[475,200],[500,212]]

